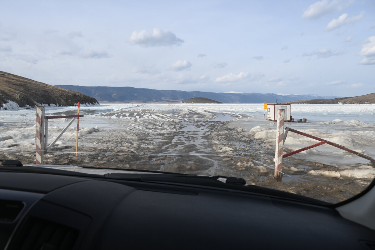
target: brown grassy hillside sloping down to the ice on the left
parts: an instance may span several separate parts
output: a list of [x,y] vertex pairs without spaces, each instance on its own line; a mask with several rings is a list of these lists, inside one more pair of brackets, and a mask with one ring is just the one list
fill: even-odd
[[34,107],[37,103],[59,106],[74,106],[77,102],[98,103],[95,98],[72,90],[0,71],[0,107],[8,101],[17,102],[20,107]]

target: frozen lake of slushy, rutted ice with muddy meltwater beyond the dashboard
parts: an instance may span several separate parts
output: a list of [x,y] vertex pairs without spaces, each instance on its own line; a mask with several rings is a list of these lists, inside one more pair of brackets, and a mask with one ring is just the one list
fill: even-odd
[[[45,114],[77,114],[77,107],[46,107]],[[80,114],[84,117],[80,118],[79,156],[74,153],[73,123],[46,152],[46,163],[237,176],[248,184],[326,201],[353,196],[375,176],[375,169],[367,166],[369,160],[321,145],[285,158],[283,183],[275,183],[272,159],[276,122],[264,120],[261,103],[102,103],[81,106]],[[293,118],[306,118],[308,122],[285,126],[375,158],[374,114],[375,105],[292,105]],[[68,123],[69,119],[49,120],[48,141],[53,141]],[[316,142],[290,132],[284,153]],[[34,143],[35,109],[0,111],[3,158],[32,164]],[[312,185],[311,181],[315,186],[330,188],[300,186]],[[351,186],[342,186],[345,183]]]

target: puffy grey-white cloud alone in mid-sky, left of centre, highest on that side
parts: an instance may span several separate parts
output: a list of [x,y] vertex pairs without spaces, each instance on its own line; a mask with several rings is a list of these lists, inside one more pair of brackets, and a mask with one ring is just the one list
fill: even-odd
[[154,47],[154,46],[179,46],[184,40],[178,38],[169,30],[161,30],[154,28],[152,34],[146,30],[133,31],[129,38],[129,43],[137,44],[142,47]]

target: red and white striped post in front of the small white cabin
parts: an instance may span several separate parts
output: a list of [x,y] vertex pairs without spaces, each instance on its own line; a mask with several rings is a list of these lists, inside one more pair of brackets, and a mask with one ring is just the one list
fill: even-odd
[[284,114],[285,109],[279,109],[276,131],[275,180],[281,181],[282,153],[284,147]]

